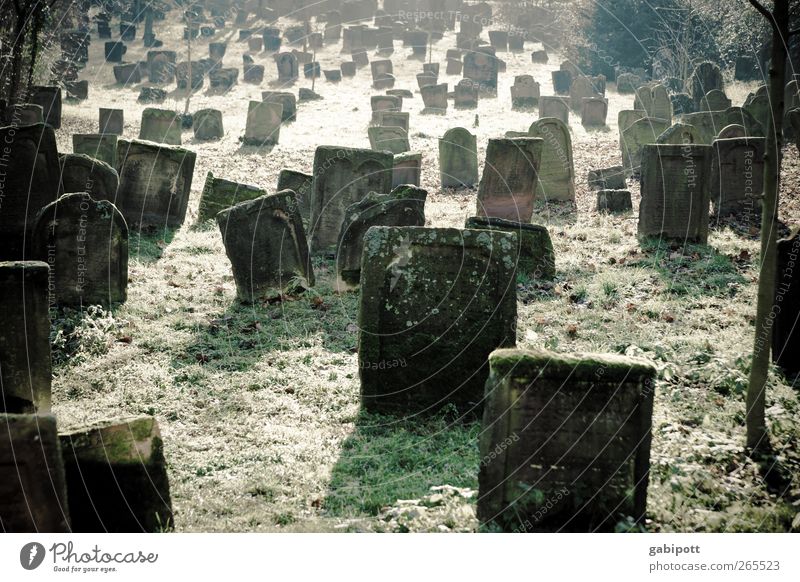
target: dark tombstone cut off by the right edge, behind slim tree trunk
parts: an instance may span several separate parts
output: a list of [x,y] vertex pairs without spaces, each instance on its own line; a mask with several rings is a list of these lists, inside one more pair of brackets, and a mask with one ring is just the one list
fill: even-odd
[[797,255],[800,237],[794,229],[788,238],[777,245],[774,305],[780,307],[772,327],[772,361],[787,376],[800,372],[797,354],[800,352],[800,281],[797,273]]

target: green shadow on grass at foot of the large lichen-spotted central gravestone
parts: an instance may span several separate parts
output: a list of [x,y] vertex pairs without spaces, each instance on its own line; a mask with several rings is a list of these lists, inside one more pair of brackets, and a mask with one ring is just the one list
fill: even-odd
[[[455,415],[453,415],[453,418]],[[377,515],[434,485],[478,487],[480,423],[443,414],[405,420],[361,412],[333,468],[325,509],[331,517]]]

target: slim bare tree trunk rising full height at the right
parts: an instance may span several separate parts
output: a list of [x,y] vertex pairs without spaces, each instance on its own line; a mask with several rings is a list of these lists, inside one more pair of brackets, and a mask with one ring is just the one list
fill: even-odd
[[[754,0],[751,0],[754,6]],[[760,5],[759,5],[760,6]],[[758,6],[756,6],[758,8]],[[761,7],[764,14],[763,7]],[[765,17],[767,16],[764,14]],[[789,41],[789,1],[775,0],[771,14],[773,27],[769,67],[769,101],[772,115],[767,124],[764,154],[764,196],[761,206],[761,269],[758,278],[753,363],[747,385],[747,448],[769,448],[765,419],[765,392],[772,344],[772,310],[775,302],[775,269],[778,239],[778,193],[780,191],[783,91],[786,85],[786,51]]]

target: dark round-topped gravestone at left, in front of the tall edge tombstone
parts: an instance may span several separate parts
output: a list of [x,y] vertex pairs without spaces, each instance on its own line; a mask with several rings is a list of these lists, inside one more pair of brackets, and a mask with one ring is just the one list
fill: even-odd
[[45,206],[33,230],[34,255],[50,266],[50,303],[85,309],[124,303],[128,225],[116,206],[86,192]]

